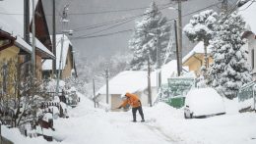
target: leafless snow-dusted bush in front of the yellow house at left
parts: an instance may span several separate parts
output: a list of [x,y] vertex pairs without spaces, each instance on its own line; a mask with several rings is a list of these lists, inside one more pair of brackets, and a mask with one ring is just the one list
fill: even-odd
[[35,123],[35,113],[40,103],[49,99],[42,81],[26,72],[26,66],[18,63],[18,58],[0,64],[4,74],[0,75],[0,120],[11,126],[22,127]]

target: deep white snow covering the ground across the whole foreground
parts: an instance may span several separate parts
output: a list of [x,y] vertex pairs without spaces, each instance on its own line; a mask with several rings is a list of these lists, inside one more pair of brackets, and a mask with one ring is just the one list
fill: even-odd
[[[226,101],[228,106],[234,106]],[[256,114],[237,114],[226,107],[227,114],[208,119],[185,120],[183,110],[164,103],[144,107],[148,122],[132,122],[132,113],[105,112],[95,109],[92,101],[81,95],[81,103],[70,112],[69,119],[54,120],[52,144],[255,144]],[[140,120],[139,114],[137,115]],[[25,138],[16,129],[3,128],[3,135],[16,144],[47,143],[41,137]]]

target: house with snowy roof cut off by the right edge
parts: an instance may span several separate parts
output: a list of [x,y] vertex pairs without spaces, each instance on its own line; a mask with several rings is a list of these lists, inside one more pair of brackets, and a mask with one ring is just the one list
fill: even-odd
[[256,64],[255,64],[255,49],[256,49],[256,19],[255,18],[256,3],[254,1],[248,1],[238,8],[238,14],[242,16],[245,21],[245,31],[242,37],[247,39],[247,43],[244,45],[248,52],[248,63],[252,69],[253,79],[256,80]]

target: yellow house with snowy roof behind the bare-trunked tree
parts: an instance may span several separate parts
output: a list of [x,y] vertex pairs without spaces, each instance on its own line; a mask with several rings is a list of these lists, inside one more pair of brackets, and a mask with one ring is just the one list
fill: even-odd
[[[209,65],[213,63],[210,57],[211,50],[208,48]],[[182,66],[188,67],[189,72],[195,72],[197,76],[201,73],[201,67],[204,65],[204,42],[200,41],[197,45],[182,59]]]

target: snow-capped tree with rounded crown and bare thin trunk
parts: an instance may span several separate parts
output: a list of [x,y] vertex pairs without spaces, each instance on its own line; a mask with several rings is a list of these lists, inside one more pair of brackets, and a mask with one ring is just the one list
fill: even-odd
[[190,23],[184,27],[184,32],[190,41],[204,42],[205,68],[208,68],[207,46],[214,35],[214,25],[217,17],[217,13],[213,10],[206,10],[194,15]]

